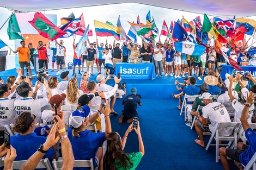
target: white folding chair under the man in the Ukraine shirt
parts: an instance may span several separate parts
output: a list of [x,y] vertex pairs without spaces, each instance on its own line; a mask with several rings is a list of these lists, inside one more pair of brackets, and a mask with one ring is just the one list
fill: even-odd
[[[216,147],[216,162],[220,159],[220,156],[218,155],[218,149],[220,146],[226,146],[227,148],[230,148],[231,144],[234,142],[235,149],[237,148],[237,130],[239,129],[241,123],[237,122],[218,122],[217,127],[215,131],[212,132],[210,140],[205,148],[205,150],[208,150],[210,146]],[[233,128],[234,133],[230,136],[219,136],[218,132],[222,128]],[[211,144],[212,140],[215,138],[216,144]],[[220,144],[219,141],[229,141],[228,144]]]

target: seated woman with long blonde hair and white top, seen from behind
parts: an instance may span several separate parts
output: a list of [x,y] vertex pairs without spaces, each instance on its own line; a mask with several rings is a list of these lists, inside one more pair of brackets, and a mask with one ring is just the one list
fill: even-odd
[[78,98],[83,95],[83,91],[78,89],[75,78],[69,80],[68,87],[64,90],[66,94],[65,105],[77,105]]

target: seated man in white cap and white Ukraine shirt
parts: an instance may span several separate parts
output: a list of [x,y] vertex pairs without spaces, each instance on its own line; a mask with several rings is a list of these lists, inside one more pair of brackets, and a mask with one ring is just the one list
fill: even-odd
[[[227,109],[225,109],[225,106],[221,103],[214,102],[210,93],[203,93],[203,95],[199,98],[203,99],[205,106],[202,109],[202,116],[196,111],[191,112],[193,116],[198,117],[198,119],[196,119],[194,122],[194,127],[196,129],[199,140],[196,139],[194,141],[200,146],[205,147],[203,131],[210,130],[213,132],[217,128],[216,122],[231,122],[231,120]],[[210,121],[209,128],[206,127],[206,125],[208,125],[208,120]],[[223,128],[219,131],[220,136],[230,136],[232,133],[233,128]]]

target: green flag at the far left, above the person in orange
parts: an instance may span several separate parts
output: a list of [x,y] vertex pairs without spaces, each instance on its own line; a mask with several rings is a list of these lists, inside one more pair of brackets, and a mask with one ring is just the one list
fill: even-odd
[[8,28],[7,28],[7,34],[9,36],[9,40],[16,40],[16,39],[24,40],[23,37],[21,36],[21,30],[15,14],[11,14]]

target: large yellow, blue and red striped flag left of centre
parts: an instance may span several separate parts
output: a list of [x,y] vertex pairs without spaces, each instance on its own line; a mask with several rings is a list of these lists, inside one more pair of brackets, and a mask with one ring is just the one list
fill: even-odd
[[94,20],[95,33],[97,36],[114,36],[115,40],[120,39],[121,28]]

